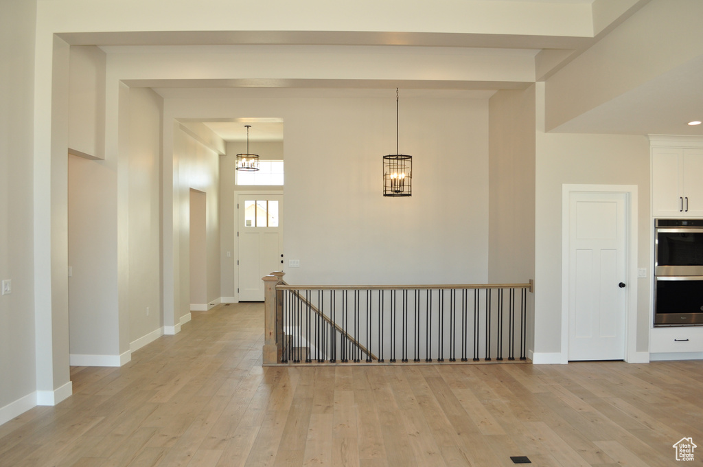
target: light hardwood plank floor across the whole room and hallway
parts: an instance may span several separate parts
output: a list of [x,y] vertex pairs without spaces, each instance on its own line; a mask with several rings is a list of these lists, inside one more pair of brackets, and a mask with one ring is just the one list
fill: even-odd
[[261,366],[263,306],[194,312],[0,426],[0,466],[674,466],[703,362]]

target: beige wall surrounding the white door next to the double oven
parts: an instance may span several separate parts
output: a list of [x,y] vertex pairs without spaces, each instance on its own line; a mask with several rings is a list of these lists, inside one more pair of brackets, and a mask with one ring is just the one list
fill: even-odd
[[[538,105],[540,101],[538,93]],[[539,113],[539,111],[538,111]],[[646,136],[536,135],[535,352],[560,352],[562,184],[638,186],[638,267],[649,264],[650,158]],[[651,274],[638,281],[637,350],[646,352]]]

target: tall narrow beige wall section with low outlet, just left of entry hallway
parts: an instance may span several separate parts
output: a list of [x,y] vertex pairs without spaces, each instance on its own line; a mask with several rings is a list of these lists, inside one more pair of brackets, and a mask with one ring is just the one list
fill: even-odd
[[[160,243],[162,110],[163,100],[154,91],[129,89],[130,343],[143,339],[146,335],[153,335],[155,331],[160,331],[162,326]],[[138,345],[131,345],[132,350],[135,347]]]

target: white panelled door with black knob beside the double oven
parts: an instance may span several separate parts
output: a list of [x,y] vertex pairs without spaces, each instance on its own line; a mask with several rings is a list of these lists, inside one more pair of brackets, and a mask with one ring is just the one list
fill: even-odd
[[569,360],[625,358],[626,193],[569,196]]

